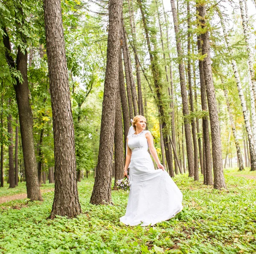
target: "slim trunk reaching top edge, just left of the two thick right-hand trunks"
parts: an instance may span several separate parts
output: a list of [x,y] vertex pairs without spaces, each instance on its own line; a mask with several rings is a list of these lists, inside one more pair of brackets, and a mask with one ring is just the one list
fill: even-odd
[[[191,59],[190,59],[190,53],[191,53],[191,33],[190,33],[190,27],[191,27],[191,18],[190,18],[190,8],[189,8],[189,1],[187,1],[187,23],[188,23],[188,83],[189,83],[189,101],[190,101],[190,111],[194,113],[194,98],[193,98],[193,92],[192,92],[192,78],[191,78]],[[196,121],[195,118],[191,119],[191,125],[192,125],[192,138],[193,138],[193,145],[194,145],[194,180],[199,180],[199,173],[198,173],[198,147],[197,147],[197,133],[196,133]]]

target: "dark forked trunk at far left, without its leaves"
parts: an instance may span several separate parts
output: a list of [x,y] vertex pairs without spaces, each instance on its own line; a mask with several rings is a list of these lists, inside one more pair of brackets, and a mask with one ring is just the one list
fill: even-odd
[[[27,77],[27,52],[21,52],[20,47],[17,49],[17,63],[9,54],[11,52],[10,41],[6,29],[3,35],[3,43],[6,48],[6,61],[11,68],[17,68],[23,77],[23,83],[16,78],[15,95],[18,106],[18,114],[20,120],[20,136],[23,150],[23,161],[26,174],[27,197],[33,200],[43,200],[38,184],[36,172],[35,148],[33,139],[33,120],[32,110],[29,105],[29,84]],[[23,35],[21,35],[23,38]],[[23,38],[24,40],[24,38]]]

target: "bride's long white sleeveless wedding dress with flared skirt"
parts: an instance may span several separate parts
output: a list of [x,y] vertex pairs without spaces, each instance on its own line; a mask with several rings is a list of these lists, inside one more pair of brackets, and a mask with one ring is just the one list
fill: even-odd
[[182,193],[169,174],[155,170],[145,134],[148,130],[128,136],[131,163],[131,184],[125,216],[120,221],[126,225],[154,225],[174,217],[182,206]]

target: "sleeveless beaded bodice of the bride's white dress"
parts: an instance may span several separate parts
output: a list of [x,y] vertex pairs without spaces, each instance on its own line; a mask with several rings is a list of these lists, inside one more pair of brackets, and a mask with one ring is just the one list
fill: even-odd
[[131,149],[131,152],[135,152],[137,150],[148,150],[148,141],[145,137],[145,134],[148,130],[143,130],[139,134],[131,134],[128,136],[128,147]]

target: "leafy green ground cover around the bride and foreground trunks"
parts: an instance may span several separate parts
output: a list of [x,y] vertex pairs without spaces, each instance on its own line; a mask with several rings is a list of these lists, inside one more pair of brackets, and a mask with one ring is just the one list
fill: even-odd
[[202,179],[194,182],[186,175],[175,176],[183,193],[183,211],[154,227],[119,222],[125,214],[127,192],[113,191],[113,206],[90,205],[92,177],[78,185],[83,214],[75,219],[47,219],[53,192],[43,194],[44,202],[2,204],[0,252],[255,253],[256,180],[232,174],[235,170],[225,170],[227,190],[223,191],[202,185]]

